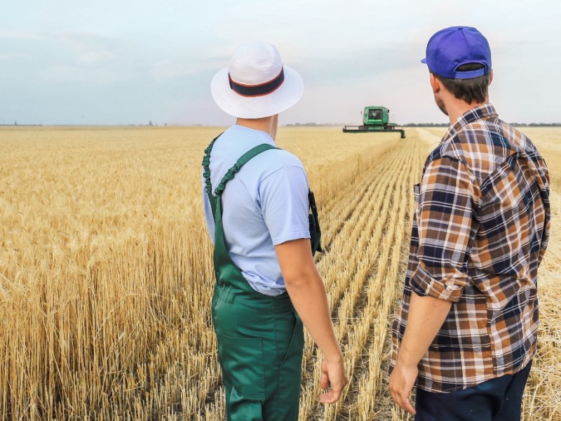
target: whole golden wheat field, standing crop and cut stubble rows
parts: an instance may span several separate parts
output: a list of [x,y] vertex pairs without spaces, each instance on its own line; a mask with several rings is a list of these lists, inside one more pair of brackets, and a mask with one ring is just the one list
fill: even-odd
[[[201,154],[218,128],[0,128],[0,419],[223,420],[210,326]],[[412,185],[443,131],[281,128],[316,192],[317,258],[351,385],[318,404],[307,338],[301,420],[407,420],[388,398]],[[550,166],[539,355],[525,420],[561,420],[561,130],[532,128]]]

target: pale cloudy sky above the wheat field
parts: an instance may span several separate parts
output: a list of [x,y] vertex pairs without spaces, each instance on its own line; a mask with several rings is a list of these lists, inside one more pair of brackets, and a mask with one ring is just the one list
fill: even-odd
[[236,46],[263,40],[302,75],[287,123],[445,123],[426,43],[444,27],[484,34],[489,88],[509,122],[561,122],[557,0],[18,0],[0,8],[0,124],[223,126],[210,81]]

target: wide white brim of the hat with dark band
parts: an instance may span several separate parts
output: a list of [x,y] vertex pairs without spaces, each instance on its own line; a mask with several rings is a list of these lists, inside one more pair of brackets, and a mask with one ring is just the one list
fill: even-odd
[[259,97],[245,97],[232,91],[228,79],[228,67],[212,78],[210,92],[222,111],[242,119],[260,119],[273,116],[295,105],[304,93],[302,76],[284,66],[285,80],[276,91]]

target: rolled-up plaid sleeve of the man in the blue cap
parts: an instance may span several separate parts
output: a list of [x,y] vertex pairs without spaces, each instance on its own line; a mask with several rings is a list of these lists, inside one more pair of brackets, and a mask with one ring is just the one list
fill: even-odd
[[473,175],[457,159],[445,156],[426,168],[415,198],[419,265],[411,287],[418,295],[451,302],[461,297],[469,282],[466,262],[476,232],[473,203],[478,191]]

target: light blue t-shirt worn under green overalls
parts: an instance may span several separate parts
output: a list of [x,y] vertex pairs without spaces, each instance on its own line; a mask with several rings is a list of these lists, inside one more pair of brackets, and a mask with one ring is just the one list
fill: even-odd
[[[240,156],[263,143],[275,145],[263,131],[238,125],[228,128],[210,154],[212,192]],[[270,149],[248,161],[222,193],[226,246],[259,293],[279,295],[286,290],[274,246],[310,238],[308,186],[304,166],[296,156]],[[204,178],[203,203],[208,233],[214,241],[215,223]]]

